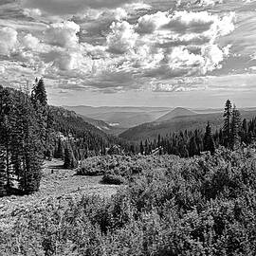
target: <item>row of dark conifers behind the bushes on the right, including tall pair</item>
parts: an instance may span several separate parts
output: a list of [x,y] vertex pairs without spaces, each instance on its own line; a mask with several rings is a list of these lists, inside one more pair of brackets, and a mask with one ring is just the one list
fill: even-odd
[[241,118],[239,110],[231,101],[225,104],[223,125],[212,133],[210,122],[206,130],[195,129],[193,131],[179,131],[166,136],[158,135],[154,140],[140,141],[137,146],[131,146],[132,152],[141,155],[151,155],[155,152],[159,155],[179,155],[192,157],[202,152],[215,153],[215,149],[224,146],[235,150],[240,145],[248,145],[255,141],[256,118],[247,120]]

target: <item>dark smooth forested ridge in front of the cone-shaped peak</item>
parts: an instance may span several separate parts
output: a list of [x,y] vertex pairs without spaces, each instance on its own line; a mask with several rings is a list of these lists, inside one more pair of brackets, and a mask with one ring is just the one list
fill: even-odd
[[[256,117],[255,110],[241,110],[240,112],[242,119],[253,119]],[[166,136],[167,134],[184,130],[205,129],[208,121],[210,121],[212,130],[220,128],[223,124],[223,113],[194,114],[174,117],[166,121],[148,122],[126,130],[119,137],[133,141],[146,138],[154,139],[158,135]]]

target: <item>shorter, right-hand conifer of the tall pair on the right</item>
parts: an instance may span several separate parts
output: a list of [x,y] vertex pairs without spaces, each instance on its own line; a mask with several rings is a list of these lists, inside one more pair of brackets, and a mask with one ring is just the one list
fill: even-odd
[[231,149],[235,149],[239,144],[239,132],[241,130],[241,115],[236,106],[233,106],[232,119],[231,119]]

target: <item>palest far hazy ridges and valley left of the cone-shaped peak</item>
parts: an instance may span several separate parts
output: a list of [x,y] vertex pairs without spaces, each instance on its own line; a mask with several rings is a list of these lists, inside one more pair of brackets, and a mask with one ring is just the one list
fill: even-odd
[[170,111],[167,107],[91,107],[64,106],[64,108],[88,118],[102,120],[112,127],[114,134],[144,122],[152,122]]

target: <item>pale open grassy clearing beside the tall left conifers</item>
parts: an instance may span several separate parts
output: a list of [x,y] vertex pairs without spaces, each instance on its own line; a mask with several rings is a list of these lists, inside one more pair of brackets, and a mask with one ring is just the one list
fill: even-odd
[[82,195],[110,197],[119,186],[101,184],[101,176],[78,176],[73,170],[64,170],[58,159],[45,162],[40,191],[25,196],[0,198],[0,229],[9,227],[15,216],[30,207],[40,207],[47,200],[79,200]]

